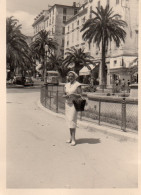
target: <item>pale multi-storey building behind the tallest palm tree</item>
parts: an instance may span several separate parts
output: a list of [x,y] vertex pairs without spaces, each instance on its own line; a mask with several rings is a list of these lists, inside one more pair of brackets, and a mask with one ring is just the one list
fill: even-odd
[[[117,48],[112,41],[107,49],[107,85],[111,85],[117,77],[120,80],[124,78],[126,82],[130,79],[129,67],[138,57],[139,0],[85,0],[78,14],[65,23],[65,51],[71,47],[83,47],[85,52],[89,52],[95,58],[96,63],[99,62],[101,64],[101,47],[98,48],[94,43],[89,45],[87,42],[84,42],[82,39],[84,32],[80,32],[80,30],[83,23],[94,16],[91,10],[96,11],[96,7],[101,5],[105,7],[107,4],[113,8],[114,13],[120,14],[121,19],[128,24],[128,27],[125,29],[127,33],[125,43],[122,43]],[[99,67],[100,77],[101,66]]]

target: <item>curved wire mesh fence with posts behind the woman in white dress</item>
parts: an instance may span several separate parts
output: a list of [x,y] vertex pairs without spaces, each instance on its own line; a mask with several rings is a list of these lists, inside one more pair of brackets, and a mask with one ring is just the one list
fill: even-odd
[[[42,86],[41,103],[56,112],[65,112],[64,86]],[[138,130],[138,101],[131,98],[117,98],[83,93],[87,100],[84,112],[79,119],[120,128],[123,131]]]

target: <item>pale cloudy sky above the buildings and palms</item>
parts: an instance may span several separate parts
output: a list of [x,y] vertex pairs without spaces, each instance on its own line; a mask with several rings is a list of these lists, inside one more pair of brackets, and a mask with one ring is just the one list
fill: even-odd
[[14,16],[22,24],[22,33],[32,36],[34,18],[48,5],[72,5],[82,0],[6,0],[7,17]]

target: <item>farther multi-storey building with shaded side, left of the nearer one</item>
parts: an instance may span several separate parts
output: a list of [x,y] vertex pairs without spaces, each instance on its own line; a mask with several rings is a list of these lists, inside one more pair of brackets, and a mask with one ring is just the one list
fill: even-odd
[[64,55],[64,35],[65,25],[64,23],[76,15],[79,7],[74,2],[72,6],[55,4],[49,6],[47,10],[43,10],[35,19],[33,23],[34,38],[38,35],[38,32],[45,29],[49,31],[51,38],[55,39],[58,43],[57,55]]

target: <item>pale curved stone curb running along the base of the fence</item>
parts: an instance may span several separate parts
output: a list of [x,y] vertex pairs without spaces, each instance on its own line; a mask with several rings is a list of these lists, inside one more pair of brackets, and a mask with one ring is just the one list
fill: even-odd
[[[65,119],[65,116],[60,113],[55,113],[47,108],[45,108],[41,103],[40,100],[37,102],[38,107],[44,110],[45,112],[52,114],[53,116],[56,116],[58,118]],[[131,141],[131,142],[137,142],[138,141],[138,134],[132,133],[132,132],[123,132],[122,130],[116,130],[112,127],[105,127],[103,125],[97,125],[95,123],[80,121],[78,119],[78,125],[80,128],[85,128],[91,132],[99,132],[103,133],[105,135],[112,136],[114,138],[120,139],[120,141]]]

